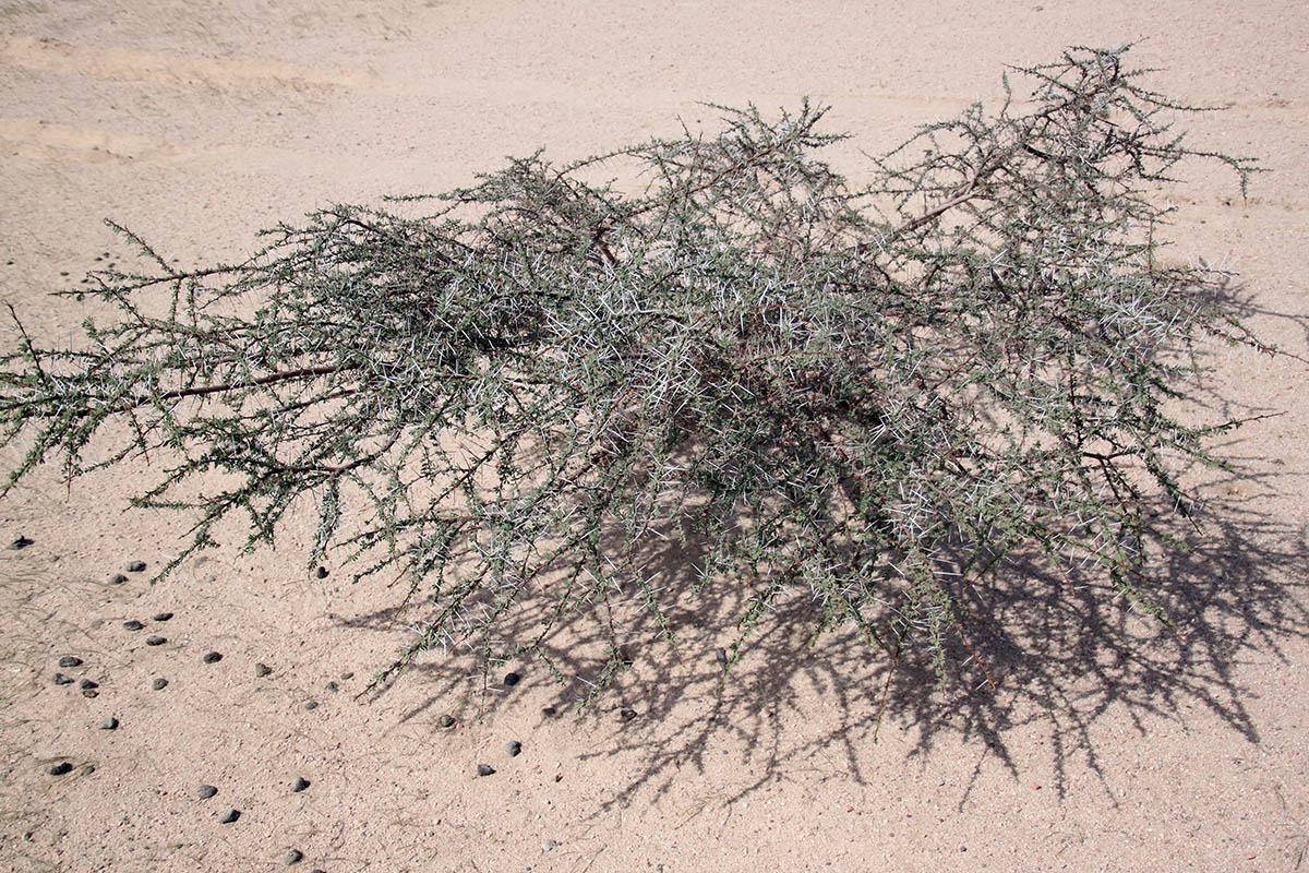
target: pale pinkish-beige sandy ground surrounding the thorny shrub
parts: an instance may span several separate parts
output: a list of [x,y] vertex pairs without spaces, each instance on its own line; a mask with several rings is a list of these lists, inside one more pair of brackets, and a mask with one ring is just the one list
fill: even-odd
[[[1250,323],[1305,353],[1282,315],[1309,313],[1309,13],[1258,0],[0,0],[0,264],[14,262],[0,296],[58,336],[82,314],[45,292],[126,254],[103,217],[183,263],[232,258],[315,205],[711,122],[698,101],[830,102],[857,177],[859,149],[996,96],[1005,63],[1141,38],[1135,59],[1166,68],[1158,89],[1230,107],[1189,120],[1196,141],[1272,170],[1247,202],[1219,173],[1177,188],[1175,257],[1238,268]],[[1285,415],[1227,449],[1244,469],[1211,486],[1232,510],[1213,527],[1225,542],[1190,564],[1187,643],[1106,626],[1144,633],[1122,660],[1077,648],[1097,637],[1077,636],[1076,609],[1014,611],[1035,657],[999,692],[906,675],[877,742],[881,668],[843,640],[809,650],[783,624],[716,688],[712,615],[730,593],[687,618],[682,661],[644,647],[580,719],[577,690],[539,668],[483,694],[436,656],[356,700],[406,639],[393,592],[335,567],[314,579],[296,527],[276,551],[106,585],[185,530],[127,512],[156,470],[71,492],[45,471],[0,503],[0,539],[35,541],[0,552],[0,868],[264,870],[296,848],[296,869],[331,873],[1309,869],[1309,378],[1288,357],[1213,360],[1232,412]],[[175,615],[151,622],[161,610]],[[122,630],[130,618],[148,628]],[[148,648],[151,632],[169,641]],[[209,649],[224,660],[203,664]],[[69,653],[98,698],[51,683]],[[445,712],[456,728],[437,726]],[[111,715],[118,730],[98,730]],[[79,770],[46,774],[64,759]],[[499,772],[475,777],[480,762]],[[202,783],[219,796],[198,800]],[[241,819],[220,825],[232,808]]]

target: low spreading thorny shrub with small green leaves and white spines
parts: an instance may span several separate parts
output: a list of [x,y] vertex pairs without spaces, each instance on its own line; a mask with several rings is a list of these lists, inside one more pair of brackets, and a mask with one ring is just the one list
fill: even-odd
[[[254,547],[312,499],[312,563],[399,569],[427,610],[378,681],[433,645],[548,660],[615,590],[672,637],[652,538],[695,539],[692,592],[749,586],[733,658],[800,592],[814,635],[922,647],[944,677],[1016,550],[1149,605],[1192,507],[1179,465],[1220,463],[1206,436],[1236,424],[1183,421],[1196,343],[1254,343],[1224,276],[1160,258],[1155,198],[1187,158],[1242,191],[1255,168],[1185,145],[1186,107],[1124,55],[1021,69],[1029,99],[1007,80],[997,111],[925,127],[863,186],[804,103],[538,153],[419,208],[332,207],[243,263],[181,271],[124,230],[157,270],[86,291],[120,318],[38,348],[14,317],[0,428],[30,449],[9,486],[164,449],[135,504],[196,522],[164,572],[232,513]],[[586,181],[611,165],[644,187]],[[126,440],[89,461],[111,420]],[[504,639],[546,580],[539,632]]]

